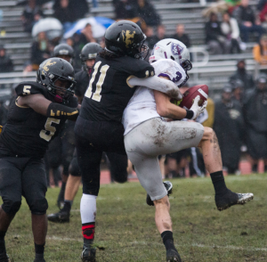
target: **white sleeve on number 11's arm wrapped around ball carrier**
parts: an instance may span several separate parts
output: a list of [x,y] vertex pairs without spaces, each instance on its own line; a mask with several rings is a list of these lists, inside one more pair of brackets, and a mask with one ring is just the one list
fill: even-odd
[[128,78],[127,84],[130,87],[146,86],[150,89],[158,90],[162,93],[168,94],[172,98],[178,100],[182,99],[182,94],[174,82],[164,78],[158,78],[157,76],[151,78]]

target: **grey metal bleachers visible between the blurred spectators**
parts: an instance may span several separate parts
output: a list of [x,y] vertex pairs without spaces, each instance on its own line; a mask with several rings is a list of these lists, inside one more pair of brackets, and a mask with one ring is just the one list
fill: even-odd
[[[193,53],[195,59],[193,62],[193,70],[190,71],[190,85],[197,83],[206,83],[210,90],[216,93],[220,90],[229,76],[236,70],[236,61],[241,58],[247,60],[247,70],[251,73],[255,71],[255,61],[253,60],[252,47],[255,43],[247,45],[247,50],[241,54],[225,54],[225,55],[208,55],[206,57],[205,45],[205,18],[202,17],[202,11],[206,6],[198,3],[180,3],[178,1],[169,0],[152,0],[151,1],[158,13],[160,14],[163,24],[166,26],[166,34],[174,34],[177,23],[185,25],[186,32],[190,35]],[[112,0],[99,0],[99,7],[93,8],[92,3],[88,0],[91,7],[92,16],[105,16],[114,19],[114,8]],[[256,4],[256,0],[252,2]],[[0,84],[8,84],[20,82],[22,78],[34,79],[35,72],[23,76],[22,69],[25,61],[30,58],[29,47],[32,42],[30,34],[23,32],[20,22],[20,14],[23,6],[16,5],[16,1],[1,1],[0,10],[3,11],[3,18],[0,21],[0,43],[4,44],[7,53],[11,55],[14,63],[15,74],[0,73]],[[53,15],[53,10],[44,10],[47,16]],[[198,53],[196,53],[196,48]],[[202,52],[199,53],[199,50]],[[196,59],[198,55],[198,60]],[[203,62],[206,61],[206,62]],[[1,95],[1,94],[0,94]]]

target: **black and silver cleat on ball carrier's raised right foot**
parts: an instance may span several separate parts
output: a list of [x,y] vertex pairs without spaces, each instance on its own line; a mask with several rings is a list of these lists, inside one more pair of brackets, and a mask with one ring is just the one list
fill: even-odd
[[217,209],[219,211],[229,209],[231,206],[234,205],[244,205],[248,201],[252,201],[254,198],[254,194],[251,192],[247,193],[237,193],[237,192],[231,192],[231,190],[228,189],[227,192],[225,192],[223,195],[215,195],[215,203],[217,206]]

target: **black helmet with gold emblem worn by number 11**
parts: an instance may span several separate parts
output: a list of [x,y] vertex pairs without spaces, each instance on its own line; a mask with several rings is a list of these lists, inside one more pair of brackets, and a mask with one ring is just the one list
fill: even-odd
[[119,20],[106,30],[105,44],[109,51],[118,55],[144,59],[149,53],[149,47],[143,44],[146,38],[136,23]]

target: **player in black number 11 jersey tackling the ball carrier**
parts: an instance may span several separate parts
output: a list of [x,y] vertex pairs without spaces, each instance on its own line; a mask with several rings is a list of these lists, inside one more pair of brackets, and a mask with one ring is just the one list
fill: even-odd
[[[75,126],[77,159],[84,185],[80,210],[84,235],[82,260],[86,262],[95,261],[93,238],[102,152],[125,155],[121,119],[135,91],[130,79],[155,80],[156,85],[148,86],[150,88],[157,88],[157,81],[161,79],[153,77],[154,68],[142,59],[148,53],[148,47],[143,45],[145,39],[142,30],[132,21],[120,20],[107,29],[106,48],[96,57]],[[168,80],[166,83],[165,87],[174,84]],[[163,88],[163,92],[168,91]],[[179,97],[175,85],[171,94],[173,92]]]

